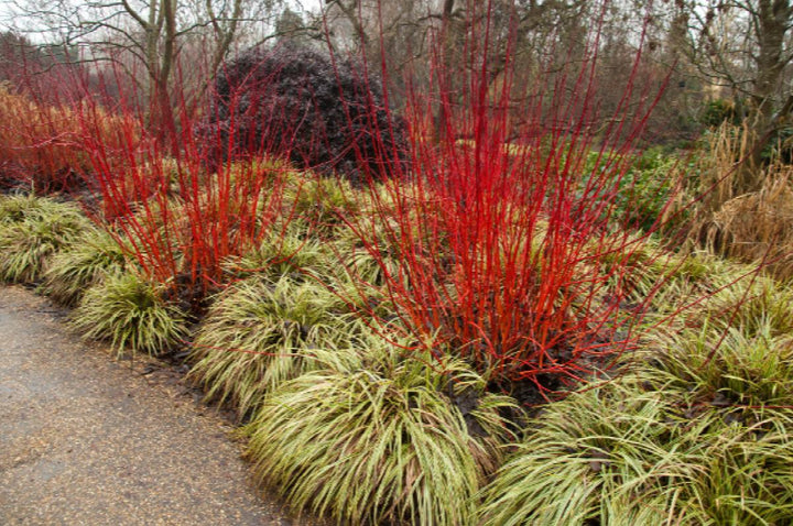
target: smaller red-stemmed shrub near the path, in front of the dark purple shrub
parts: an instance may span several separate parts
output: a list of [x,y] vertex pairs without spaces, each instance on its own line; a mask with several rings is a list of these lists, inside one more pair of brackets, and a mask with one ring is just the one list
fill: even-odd
[[293,210],[282,197],[292,171],[264,156],[209,169],[186,88],[174,87],[181,102],[169,127],[173,136],[164,139],[160,129],[148,129],[148,113],[134,97],[119,95],[120,144],[96,133],[101,98],[74,109],[90,161],[85,177],[98,197],[96,219],[123,241],[146,280],[163,285],[183,310],[200,314],[224,285],[225,260],[257,248],[275,220],[282,227],[291,221]]

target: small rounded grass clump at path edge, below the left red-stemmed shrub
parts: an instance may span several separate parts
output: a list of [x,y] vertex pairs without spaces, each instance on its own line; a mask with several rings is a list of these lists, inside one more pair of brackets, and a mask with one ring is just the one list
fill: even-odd
[[118,354],[165,354],[188,335],[186,315],[163,299],[163,289],[123,272],[89,288],[72,313],[72,328],[87,339],[110,342]]

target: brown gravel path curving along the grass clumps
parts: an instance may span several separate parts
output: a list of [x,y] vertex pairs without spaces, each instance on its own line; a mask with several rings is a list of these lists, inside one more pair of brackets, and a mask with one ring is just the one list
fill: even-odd
[[228,423],[178,374],[113,361],[63,315],[0,287],[0,524],[298,524],[253,490]]

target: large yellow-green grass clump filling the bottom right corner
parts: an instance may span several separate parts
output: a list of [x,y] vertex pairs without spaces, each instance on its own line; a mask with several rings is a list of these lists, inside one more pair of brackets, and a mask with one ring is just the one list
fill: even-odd
[[481,493],[481,524],[786,524],[790,409],[740,421],[686,396],[622,379],[548,405]]

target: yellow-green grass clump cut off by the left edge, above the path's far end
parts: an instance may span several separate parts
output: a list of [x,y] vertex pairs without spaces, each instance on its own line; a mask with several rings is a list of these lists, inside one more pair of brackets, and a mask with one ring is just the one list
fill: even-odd
[[0,210],[0,280],[35,283],[50,260],[90,223],[74,204],[33,197],[6,199]]

